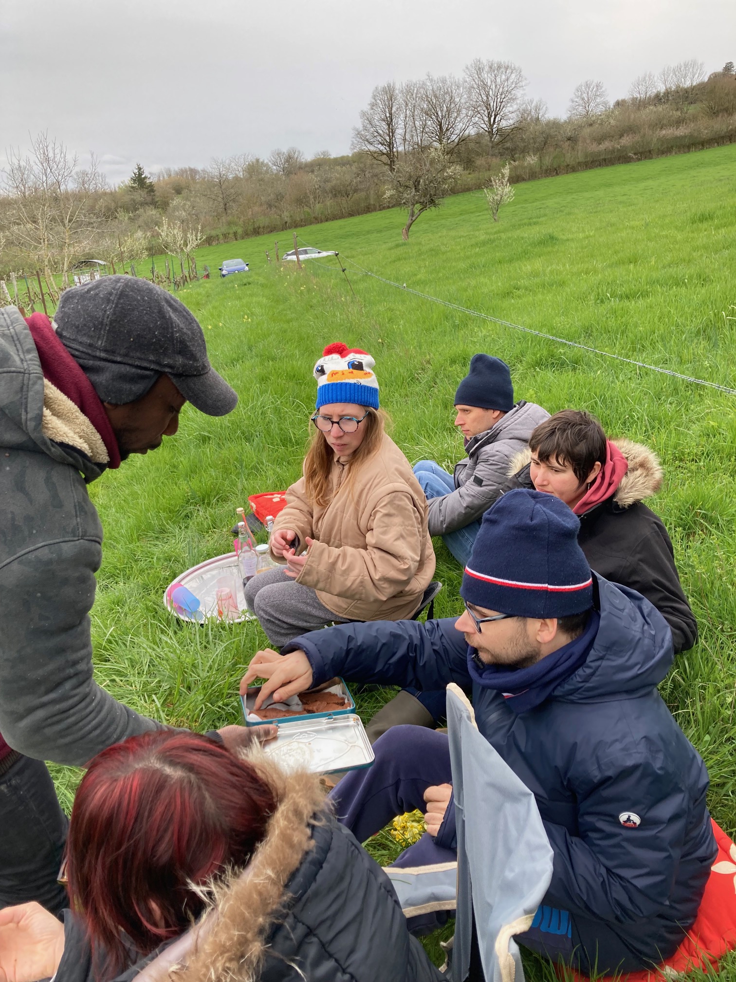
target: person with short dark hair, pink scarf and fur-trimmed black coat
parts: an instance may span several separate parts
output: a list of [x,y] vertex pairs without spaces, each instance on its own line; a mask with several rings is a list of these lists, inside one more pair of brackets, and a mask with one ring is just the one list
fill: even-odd
[[692,648],[698,625],[685,597],[661,518],[644,500],[657,494],[655,454],[631,440],[609,440],[590,413],[563,409],[532,432],[511,464],[516,486],[561,499],[580,518],[578,541],[591,568],[657,607],[675,653]]

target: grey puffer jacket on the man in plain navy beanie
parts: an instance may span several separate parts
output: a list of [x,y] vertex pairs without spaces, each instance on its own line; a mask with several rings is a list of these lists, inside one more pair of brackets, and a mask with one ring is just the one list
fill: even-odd
[[510,486],[508,464],[529,443],[535,426],[550,418],[547,409],[522,399],[485,433],[465,445],[467,457],[455,465],[455,490],[429,502],[430,535],[464,528],[483,516]]

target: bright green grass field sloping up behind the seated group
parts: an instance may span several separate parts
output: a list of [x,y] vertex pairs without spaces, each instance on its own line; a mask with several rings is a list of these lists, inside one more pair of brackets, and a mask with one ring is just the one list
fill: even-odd
[[[408,244],[402,225],[399,212],[384,211],[299,234],[435,297],[736,387],[736,146],[519,185],[498,225],[479,192],[424,215]],[[277,238],[282,253],[291,248],[290,236]],[[176,623],[162,592],[177,573],[231,548],[248,494],[299,475],[317,355],[332,341],[374,355],[395,441],[412,463],[450,465],[462,454],[454,390],[470,356],[484,351],[510,364],[517,398],[551,412],[590,409],[610,435],[661,458],[654,507],[701,627],[700,644],[678,658],[661,691],[706,759],[713,816],[735,834],[736,397],[419,300],[349,262],[349,284],[334,260],[301,273],[268,265],[266,248],[273,257],[274,237],[201,249],[200,272],[208,263],[217,277],[236,256],[251,272],[179,293],[237,389],[237,409],[212,419],[185,408],[175,439],[90,488],[105,527],[92,612],[99,682],[169,723],[237,722],[237,682],[264,635],[253,624]],[[460,571],[441,543],[436,551],[446,584],[437,615],[450,616],[459,612]],[[379,696],[360,697],[366,717]],[[55,775],[68,805],[77,774]]]

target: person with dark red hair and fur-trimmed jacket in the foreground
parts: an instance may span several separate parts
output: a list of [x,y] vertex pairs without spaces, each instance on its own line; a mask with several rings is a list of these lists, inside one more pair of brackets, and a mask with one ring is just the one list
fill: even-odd
[[67,864],[63,925],[35,902],[0,910],[0,979],[152,982],[174,965],[179,982],[442,978],[319,778],[206,736],[159,731],[99,753]]

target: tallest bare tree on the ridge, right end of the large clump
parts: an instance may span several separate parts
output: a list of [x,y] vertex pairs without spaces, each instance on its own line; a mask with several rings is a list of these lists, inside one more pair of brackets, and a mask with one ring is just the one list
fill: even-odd
[[513,62],[476,58],[465,69],[465,88],[472,123],[493,146],[510,132],[518,118],[526,79]]

